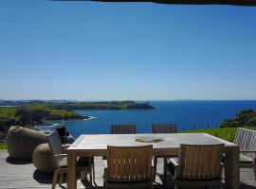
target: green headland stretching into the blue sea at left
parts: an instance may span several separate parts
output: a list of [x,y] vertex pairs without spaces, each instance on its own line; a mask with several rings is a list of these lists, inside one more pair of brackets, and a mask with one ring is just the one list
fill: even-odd
[[12,125],[32,127],[47,120],[89,119],[76,110],[131,110],[155,109],[149,103],[135,101],[81,102],[62,100],[0,100],[0,130]]

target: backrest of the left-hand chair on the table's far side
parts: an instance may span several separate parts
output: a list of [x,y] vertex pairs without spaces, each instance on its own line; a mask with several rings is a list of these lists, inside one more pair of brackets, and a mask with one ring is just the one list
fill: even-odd
[[136,125],[111,125],[111,134],[136,134],[137,126]]

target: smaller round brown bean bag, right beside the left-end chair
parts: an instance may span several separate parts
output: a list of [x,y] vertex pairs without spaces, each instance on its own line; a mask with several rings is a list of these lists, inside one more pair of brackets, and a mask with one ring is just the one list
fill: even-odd
[[47,174],[53,173],[52,153],[48,144],[41,144],[35,148],[33,163],[39,171]]

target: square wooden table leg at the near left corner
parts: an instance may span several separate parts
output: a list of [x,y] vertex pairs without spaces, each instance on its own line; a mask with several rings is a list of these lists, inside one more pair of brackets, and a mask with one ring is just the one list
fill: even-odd
[[76,189],[77,180],[76,180],[76,166],[77,166],[77,157],[75,152],[67,151],[67,189]]

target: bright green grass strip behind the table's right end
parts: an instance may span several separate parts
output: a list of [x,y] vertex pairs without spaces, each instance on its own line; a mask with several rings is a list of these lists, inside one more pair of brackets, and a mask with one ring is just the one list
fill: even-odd
[[[256,130],[256,127],[245,127],[246,129],[253,129]],[[233,142],[235,138],[237,128],[221,128],[221,129],[195,129],[195,130],[184,130],[181,132],[189,132],[189,133],[196,133],[196,132],[205,132],[211,134],[213,136],[219,137],[229,142]]]

